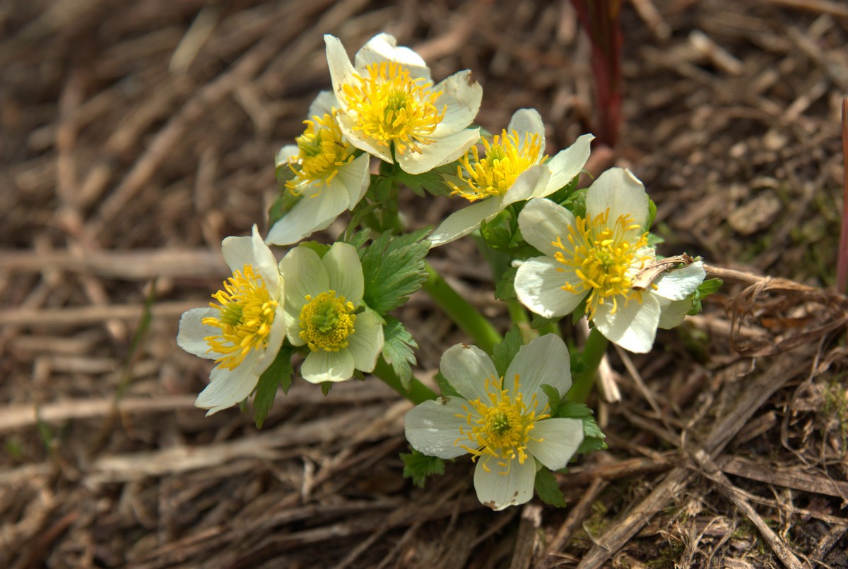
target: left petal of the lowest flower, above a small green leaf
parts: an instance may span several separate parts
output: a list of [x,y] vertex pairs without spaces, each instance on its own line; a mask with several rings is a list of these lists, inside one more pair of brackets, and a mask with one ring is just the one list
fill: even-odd
[[404,417],[406,440],[427,456],[449,459],[467,454],[455,445],[460,429],[467,426],[465,403],[460,397],[439,397],[413,407]]

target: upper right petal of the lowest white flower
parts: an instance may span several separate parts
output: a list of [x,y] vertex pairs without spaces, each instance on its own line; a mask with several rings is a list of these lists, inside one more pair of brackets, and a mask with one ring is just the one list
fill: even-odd
[[572,367],[565,342],[556,334],[545,334],[522,345],[510,367],[506,368],[504,389],[510,392],[515,389],[516,375],[520,378],[518,390],[524,395],[524,401],[529,403],[533,395],[538,395],[537,411],[541,413],[548,401],[540,387],[542,384],[555,388],[560,395],[565,395],[572,387]]

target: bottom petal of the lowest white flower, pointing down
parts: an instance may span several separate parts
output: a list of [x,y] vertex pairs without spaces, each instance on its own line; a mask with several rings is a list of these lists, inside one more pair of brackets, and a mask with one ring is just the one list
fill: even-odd
[[491,457],[486,472],[483,464],[486,456],[477,459],[474,469],[474,489],[477,490],[477,500],[495,511],[503,510],[510,505],[524,504],[533,498],[533,484],[536,480],[536,461],[527,457],[524,464],[518,459],[510,461],[509,474],[501,474],[497,459]]

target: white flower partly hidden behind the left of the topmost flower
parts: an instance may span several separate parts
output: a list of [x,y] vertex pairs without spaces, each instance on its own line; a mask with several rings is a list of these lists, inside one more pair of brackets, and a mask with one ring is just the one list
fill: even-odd
[[266,243],[289,245],[326,229],[365,196],[371,155],[356,157],[357,149],[338,128],[336,108],[336,97],[322,91],[310,106],[310,119],[304,120],[306,130],[297,144],[276,153],[276,168],[291,168],[294,174],[286,190],[300,199],[271,227]]

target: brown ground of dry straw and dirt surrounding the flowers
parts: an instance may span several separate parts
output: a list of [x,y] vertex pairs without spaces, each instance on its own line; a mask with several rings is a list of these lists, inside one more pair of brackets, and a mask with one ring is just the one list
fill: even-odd
[[[594,171],[644,180],[667,252],[746,273],[650,356],[611,353],[610,450],[561,476],[569,508],[494,513],[466,462],[400,478],[409,406],[377,381],[299,382],[261,432],[204,418],[176,324],[226,276],[220,240],[261,223],[329,86],[321,34],[472,69],[479,124],[535,107],[555,149],[593,121],[571,4],[0,0],[0,566],[848,567],[848,311],[826,288],[848,8],[633,0],[622,22],[625,124]],[[424,225],[455,202],[406,205]],[[505,327],[471,243],[435,257]],[[400,316],[422,378],[466,340],[426,296]]]

